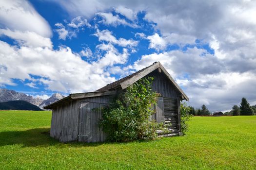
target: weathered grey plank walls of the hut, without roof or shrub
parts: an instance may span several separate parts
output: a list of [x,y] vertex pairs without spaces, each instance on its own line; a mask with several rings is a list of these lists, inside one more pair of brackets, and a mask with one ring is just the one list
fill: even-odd
[[[174,132],[180,132],[180,93],[160,70],[148,74],[154,77],[152,88],[161,94],[152,119],[168,121]],[[122,90],[118,90],[118,93]],[[102,142],[106,134],[98,126],[102,118],[100,108],[111,102],[113,96],[99,96],[73,100],[61,104],[52,112],[50,136],[61,142]]]

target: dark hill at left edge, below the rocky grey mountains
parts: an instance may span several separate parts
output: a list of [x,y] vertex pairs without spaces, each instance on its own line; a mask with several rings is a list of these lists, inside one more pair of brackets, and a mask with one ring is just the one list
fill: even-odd
[[0,102],[0,110],[35,110],[40,111],[41,109],[26,101],[9,101]]

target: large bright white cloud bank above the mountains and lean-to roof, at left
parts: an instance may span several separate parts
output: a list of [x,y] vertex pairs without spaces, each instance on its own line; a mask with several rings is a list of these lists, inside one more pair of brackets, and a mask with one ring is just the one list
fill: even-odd
[[[107,68],[124,64],[129,54],[125,49],[119,53],[110,47],[101,58],[89,64],[68,47],[17,48],[0,41],[0,55],[0,66],[4,66],[0,69],[0,85],[13,84],[13,79],[34,81],[32,75],[36,75],[40,77],[37,81],[49,90],[70,93],[93,91],[115,81]],[[35,83],[27,85],[35,86]]]

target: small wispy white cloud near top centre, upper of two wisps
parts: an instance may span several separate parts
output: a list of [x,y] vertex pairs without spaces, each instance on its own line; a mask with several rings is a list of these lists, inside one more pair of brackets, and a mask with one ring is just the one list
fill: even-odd
[[118,15],[114,16],[112,13],[97,13],[96,15],[102,17],[102,20],[99,23],[103,23],[105,25],[126,25],[132,28],[137,28],[138,25],[134,23],[128,23],[125,19],[121,19]]

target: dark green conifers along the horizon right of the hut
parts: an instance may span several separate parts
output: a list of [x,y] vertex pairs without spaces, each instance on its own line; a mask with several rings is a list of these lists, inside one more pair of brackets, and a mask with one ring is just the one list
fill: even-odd
[[[194,116],[209,116],[211,112],[208,108],[203,104],[201,108],[190,107],[190,114]],[[234,105],[232,110],[229,112],[225,112],[226,116],[239,116],[239,115],[256,115],[256,104],[250,106],[249,102],[245,98],[242,98],[240,106]]]

